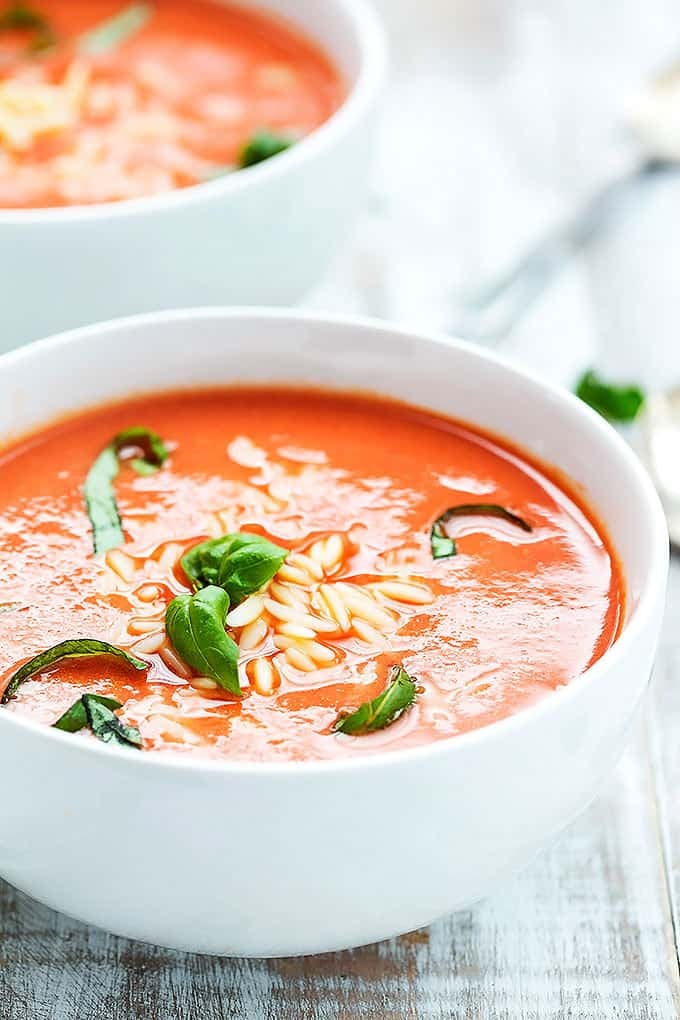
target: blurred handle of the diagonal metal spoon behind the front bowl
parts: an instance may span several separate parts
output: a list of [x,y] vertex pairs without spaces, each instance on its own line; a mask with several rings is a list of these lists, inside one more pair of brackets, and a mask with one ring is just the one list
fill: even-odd
[[489,345],[504,340],[569,259],[620,209],[634,187],[648,174],[666,168],[667,164],[648,159],[608,182],[510,269],[465,297],[456,310],[451,332]]

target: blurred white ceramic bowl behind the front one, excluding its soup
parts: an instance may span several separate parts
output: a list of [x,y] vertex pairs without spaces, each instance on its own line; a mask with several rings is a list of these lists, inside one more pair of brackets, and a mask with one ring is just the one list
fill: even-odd
[[126,202],[0,209],[0,351],[115,315],[287,304],[318,279],[367,188],[385,45],[365,0],[239,0],[316,40],[349,95],[287,152]]

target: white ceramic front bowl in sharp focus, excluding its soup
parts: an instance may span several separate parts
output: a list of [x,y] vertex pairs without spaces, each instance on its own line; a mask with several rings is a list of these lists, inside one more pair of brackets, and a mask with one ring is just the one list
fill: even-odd
[[483,729],[360,761],[130,754],[0,710],[10,882],[164,946],[319,953],[485,896],[586,806],[647,683],[668,539],[637,460],[574,397],[475,348],[388,325],[206,309],[76,330],[0,358],[0,437],[138,391],[233,380],[361,388],[508,437],[582,489],[628,586],[620,639],[568,686]]

